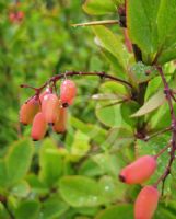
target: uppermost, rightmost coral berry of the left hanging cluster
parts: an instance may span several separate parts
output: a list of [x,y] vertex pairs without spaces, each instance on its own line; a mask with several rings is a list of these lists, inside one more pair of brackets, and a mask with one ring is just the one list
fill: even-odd
[[63,105],[71,105],[77,94],[75,83],[71,80],[64,80],[60,85],[60,100]]

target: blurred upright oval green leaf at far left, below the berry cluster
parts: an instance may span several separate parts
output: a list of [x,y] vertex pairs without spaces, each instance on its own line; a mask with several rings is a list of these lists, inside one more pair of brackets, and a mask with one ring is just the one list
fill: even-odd
[[13,185],[27,173],[33,157],[33,146],[28,139],[22,139],[11,146],[5,158],[9,184]]

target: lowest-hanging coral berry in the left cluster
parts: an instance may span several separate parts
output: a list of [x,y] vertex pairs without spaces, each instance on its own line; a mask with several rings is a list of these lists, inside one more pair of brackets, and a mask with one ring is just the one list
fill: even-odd
[[44,114],[42,112],[37,113],[34,117],[31,137],[33,140],[37,141],[44,138],[47,130],[47,123],[45,120]]

